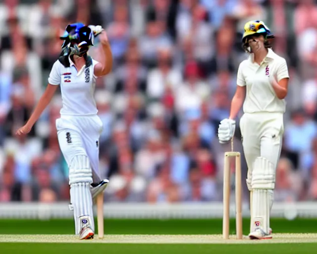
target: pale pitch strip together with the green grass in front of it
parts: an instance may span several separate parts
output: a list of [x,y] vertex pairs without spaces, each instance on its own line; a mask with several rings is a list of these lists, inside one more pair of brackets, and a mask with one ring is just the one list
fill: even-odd
[[[317,234],[274,234],[272,240],[236,240],[221,235],[106,235],[80,241],[74,235],[0,235],[3,254],[311,254]],[[265,245],[265,246],[263,246]]]

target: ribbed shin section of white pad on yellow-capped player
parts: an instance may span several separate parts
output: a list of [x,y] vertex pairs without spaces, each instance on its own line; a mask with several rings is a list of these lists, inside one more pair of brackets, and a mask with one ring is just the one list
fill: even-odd
[[251,232],[261,227],[268,233],[269,229],[269,194],[267,190],[252,191],[252,224]]

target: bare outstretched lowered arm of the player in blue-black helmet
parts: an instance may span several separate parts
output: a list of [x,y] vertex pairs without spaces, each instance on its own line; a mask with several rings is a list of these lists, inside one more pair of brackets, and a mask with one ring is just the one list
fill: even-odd
[[45,110],[45,108],[49,105],[51,102],[53,95],[57,89],[58,85],[51,85],[48,84],[44,94],[41,96],[38,104],[36,105],[30,119],[27,121],[27,123],[19,128],[16,131],[16,135],[23,135],[27,134],[31,131],[32,127],[34,126],[35,122],[39,119],[42,112]]

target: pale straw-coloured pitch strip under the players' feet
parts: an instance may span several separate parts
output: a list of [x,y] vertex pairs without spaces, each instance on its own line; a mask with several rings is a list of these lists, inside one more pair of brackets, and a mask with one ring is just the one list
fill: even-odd
[[273,234],[270,240],[243,240],[222,235],[105,235],[100,240],[80,241],[74,235],[0,235],[0,243],[95,243],[95,244],[273,244],[273,243],[317,243],[317,234]]

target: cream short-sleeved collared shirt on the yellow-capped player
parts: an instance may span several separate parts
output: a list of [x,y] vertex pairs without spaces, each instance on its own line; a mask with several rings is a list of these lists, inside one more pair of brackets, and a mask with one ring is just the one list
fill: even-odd
[[273,75],[277,82],[289,78],[285,59],[271,49],[268,49],[262,64],[254,63],[254,55],[251,54],[249,59],[239,65],[237,85],[247,86],[244,113],[285,112],[286,102],[277,98],[269,75]]

